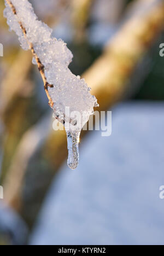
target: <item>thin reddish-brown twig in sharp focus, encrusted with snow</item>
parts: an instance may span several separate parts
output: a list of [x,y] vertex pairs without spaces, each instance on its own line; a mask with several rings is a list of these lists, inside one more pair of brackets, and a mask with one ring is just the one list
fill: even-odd
[[44,72],[44,65],[42,64],[42,62],[40,61],[38,55],[36,54],[36,51],[33,48],[33,44],[31,42],[29,42],[28,38],[27,38],[27,31],[26,28],[24,27],[24,25],[22,24],[22,22],[19,20],[19,17],[17,16],[16,13],[16,8],[14,7],[13,3],[10,0],[6,0],[7,4],[9,5],[9,7],[11,8],[11,10],[13,11],[13,14],[16,16],[18,23],[20,24],[20,28],[24,34],[25,39],[27,40],[27,43],[29,45],[29,48],[32,52],[33,57],[36,59],[37,62],[37,66],[40,72],[40,75],[42,77],[43,83],[44,83],[44,90],[46,93],[46,96],[49,99],[49,106],[52,108],[54,106],[54,102],[52,101],[51,96],[49,95],[49,91],[48,91],[48,87],[53,88],[54,85],[49,84],[47,82],[46,76],[45,76],[45,72]]

